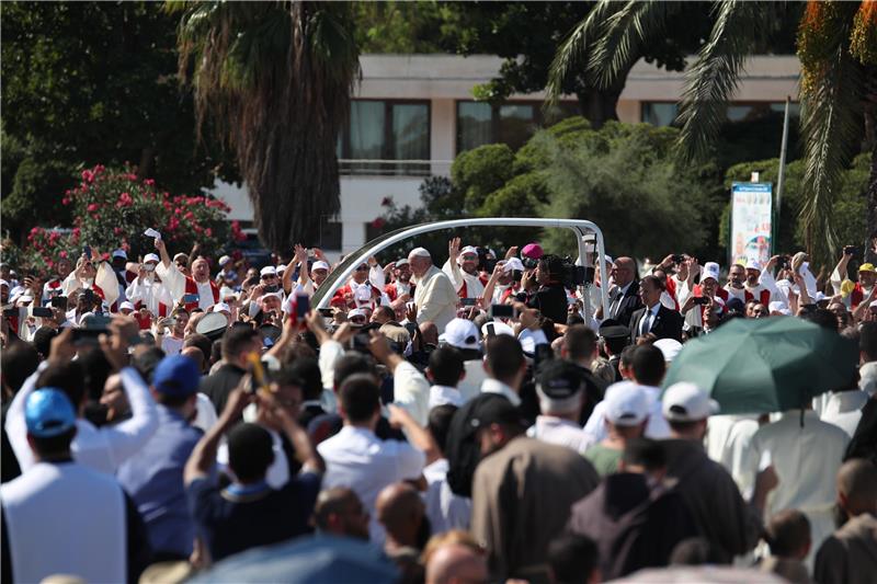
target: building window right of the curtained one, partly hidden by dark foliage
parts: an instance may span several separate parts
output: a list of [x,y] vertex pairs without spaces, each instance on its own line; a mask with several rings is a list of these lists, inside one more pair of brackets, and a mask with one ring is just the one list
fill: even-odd
[[506,102],[491,105],[483,102],[457,102],[457,152],[486,144],[506,144],[517,149],[540,126],[579,115],[578,104],[561,102],[548,112],[542,102]]

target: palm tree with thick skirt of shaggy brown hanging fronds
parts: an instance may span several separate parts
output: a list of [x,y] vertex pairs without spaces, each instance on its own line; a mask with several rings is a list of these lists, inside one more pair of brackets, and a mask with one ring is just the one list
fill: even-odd
[[317,243],[338,213],[335,148],[360,76],[346,2],[169,2],[182,79],[237,158],[262,241]]

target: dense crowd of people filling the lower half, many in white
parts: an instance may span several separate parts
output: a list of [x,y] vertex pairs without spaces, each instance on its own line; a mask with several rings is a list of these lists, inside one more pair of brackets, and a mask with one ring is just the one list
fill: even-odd
[[[877,270],[856,253],[830,274],[591,256],[582,282],[538,243],[454,238],[329,290],[339,264],[300,245],[0,264],[3,581],[221,581],[297,538],[377,549],[406,583],[877,582]],[[690,340],[793,318],[854,341],[855,378],[752,415],[662,389]]]

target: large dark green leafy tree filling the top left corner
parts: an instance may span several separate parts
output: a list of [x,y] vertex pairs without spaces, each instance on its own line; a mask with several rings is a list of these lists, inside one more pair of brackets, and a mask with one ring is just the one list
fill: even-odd
[[4,229],[69,225],[64,190],[98,163],[192,194],[235,178],[196,148],[175,25],[152,2],[0,3]]

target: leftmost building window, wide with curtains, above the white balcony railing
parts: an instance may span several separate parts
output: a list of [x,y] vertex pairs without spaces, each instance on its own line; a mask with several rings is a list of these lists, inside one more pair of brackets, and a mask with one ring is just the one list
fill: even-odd
[[343,174],[430,174],[429,102],[353,100],[338,154]]

